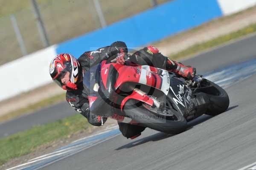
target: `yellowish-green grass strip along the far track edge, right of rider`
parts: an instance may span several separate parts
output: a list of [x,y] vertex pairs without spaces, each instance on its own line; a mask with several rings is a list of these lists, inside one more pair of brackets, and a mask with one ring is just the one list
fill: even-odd
[[177,59],[177,58],[180,58],[180,57],[186,57],[186,56],[189,56],[189,55],[197,54],[197,53],[202,52],[204,50],[207,50],[209,48],[212,48],[212,47],[215,47],[215,46],[218,46],[218,45],[222,45],[225,42],[228,42],[230,40],[236,40],[240,37],[252,34],[254,32],[256,32],[256,24],[252,24],[252,25],[247,26],[245,28],[242,28],[238,31],[235,31],[235,32],[232,32],[230,34],[214,38],[214,39],[206,41],[206,42],[202,42],[202,43],[192,45],[191,47],[189,47],[189,48],[187,48],[183,51],[180,51],[177,54],[171,54],[170,58]]

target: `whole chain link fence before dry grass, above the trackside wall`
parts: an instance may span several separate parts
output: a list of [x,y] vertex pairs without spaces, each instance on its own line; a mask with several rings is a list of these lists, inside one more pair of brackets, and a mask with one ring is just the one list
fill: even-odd
[[[56,44],[102,27],[96,8],[99,3],[105,24],[122,20],[169,0],[49,0],[38,4],[49,43]],[[12,17],[12,20],[11,20]],[[15,28],[15,22],[17,28]],[[31,8],[0,18],[0,65],[44,48]],[[20,35],[18,35],[20,33]]]

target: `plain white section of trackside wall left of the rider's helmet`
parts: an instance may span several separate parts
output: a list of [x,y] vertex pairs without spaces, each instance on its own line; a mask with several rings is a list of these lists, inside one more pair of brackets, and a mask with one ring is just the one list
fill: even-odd
[[51,82],[49,63],[56,55],[56,45],[0,66],[0,100]]

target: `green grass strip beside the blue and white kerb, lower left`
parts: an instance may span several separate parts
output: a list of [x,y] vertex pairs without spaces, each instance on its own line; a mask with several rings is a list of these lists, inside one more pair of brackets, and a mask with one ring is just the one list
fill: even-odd
[[39,146],[87,129],[89,126],[82,115],[75,114],[0,139],[0,165],[10,159],[32,153]]

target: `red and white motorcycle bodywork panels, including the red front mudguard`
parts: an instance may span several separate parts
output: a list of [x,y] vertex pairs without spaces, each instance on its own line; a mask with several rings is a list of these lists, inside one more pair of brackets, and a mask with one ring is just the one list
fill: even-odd
[[[102,82],[106,87],[107,79],[108,79],[108,71],[109,67],[113,65],[117,72],[119,73],[119,77],[116,80],[115,89],[118,89],[119,86],[124,84],[125,82],[137,82],[140,84],[148,85],[157,89],[160,89],[165,93],[168,94],[169,91],[169,74],[168,71],[164,71],[163,74],[160,76],[157,74],[158,69],[154,67],[150,67],[148,65],[139,65],[139,66],[127,66],[127,65],[120,65],[116,63],[106,64],[106,61],[102,62],[101,68],[101,77]],[[164,82],[163,82],[164,81]],[[121,103],[121,110],[125,105],[125,102],[128,99],[136,99],[142,102],[147,103],[148,105],[153,105],[154,101],[149,96],[140,94],[137,91],[134,91],[130,96],[125,97],[125,99]]]

